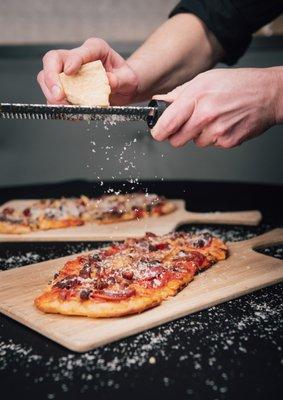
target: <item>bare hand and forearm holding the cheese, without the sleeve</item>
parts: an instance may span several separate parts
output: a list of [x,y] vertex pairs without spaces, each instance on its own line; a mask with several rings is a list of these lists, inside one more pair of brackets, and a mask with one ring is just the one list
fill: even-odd
[[[66,102],[58,74],[75,74],[82,64],[102,60],[112,105],[147,100],[211,68],[222,48],[200,19],[179,14],[166,21],[126,62],[103,40],[90,38],[72,50],[51,50],[43,57],[38,82],[49,103]],[[160,61],[161,60],[161,61]]]

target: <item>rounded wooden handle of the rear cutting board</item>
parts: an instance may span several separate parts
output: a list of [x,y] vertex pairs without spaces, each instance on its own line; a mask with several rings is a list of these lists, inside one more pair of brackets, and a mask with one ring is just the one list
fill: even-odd
[[258,225],[262,215],[258,210],[195,213],[185,212],[185,221],[182,223],[197,224],[228,224],[228,225]]

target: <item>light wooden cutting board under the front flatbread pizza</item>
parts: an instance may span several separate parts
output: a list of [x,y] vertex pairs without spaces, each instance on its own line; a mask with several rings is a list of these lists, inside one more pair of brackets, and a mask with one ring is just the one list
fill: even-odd
[[73,256],[0,272],[0,311],[70,350],[84,352],[283,280],[283,261],[255,247],[283,244],[283,229],[229,244],[230,257],[196,276],[177,296],[139,315],[91,319],[44,314],[33,305]]

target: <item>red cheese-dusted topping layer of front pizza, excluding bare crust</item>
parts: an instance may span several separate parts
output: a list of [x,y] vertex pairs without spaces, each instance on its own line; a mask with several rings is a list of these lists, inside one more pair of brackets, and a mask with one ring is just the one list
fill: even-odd
[[[51,286],[64,290],[64,299],[125,300],[139,291],[161,289],[172,279],[193,277],[211,266],[216,262],[209,248],[212,241],[208,234],[178,232],[158,237],[147,233],[141,239],[113,243],[68,261],[61,271],[64,277],[58,281],[59,275],[55,275]],[[224,244],[222,254],[225,258]]]

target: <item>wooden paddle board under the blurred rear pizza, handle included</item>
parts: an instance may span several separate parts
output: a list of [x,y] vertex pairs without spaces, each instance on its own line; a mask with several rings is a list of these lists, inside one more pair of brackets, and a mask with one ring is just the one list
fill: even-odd
[[[26,208],[34,200],[12,200],[5,207]],[[24,235],[0,234],[1,242],[39,242],[39,241],[99,241],[124,240],[127,237],[141,237],[145,232],[163,235],[171,232],[182,224],[231,224],[258,225],[261,213],[252,211],[195,213],[186,211],[183,200],[173,200],[177,209],[172,214],[162,217],[150,217],[118,224],[87,224],[64,229],[32,232]]]

